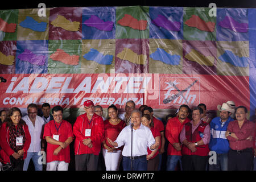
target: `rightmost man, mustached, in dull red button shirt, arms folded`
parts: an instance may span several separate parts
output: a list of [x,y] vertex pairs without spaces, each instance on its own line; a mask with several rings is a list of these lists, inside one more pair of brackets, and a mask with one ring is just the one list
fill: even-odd
[[238,106],[236,109],[237,120],[228,125],[226,138],[229,140],[229,171],[250,171],[254,159],[254,132],[255,123],[246,119],[247,108]]

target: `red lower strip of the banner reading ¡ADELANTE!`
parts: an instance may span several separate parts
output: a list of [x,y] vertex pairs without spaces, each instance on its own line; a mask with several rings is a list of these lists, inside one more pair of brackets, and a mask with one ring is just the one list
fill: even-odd
[[120,108],[129,100],[159,109],[196,106],[203,101],[214,110],[220,100],[250,105],[249,77],[242,76],[101,73],[6,75],[6,79],[0,107],[26,107],[32,102],[81,107],[88,99],[102,107],[114,104]]

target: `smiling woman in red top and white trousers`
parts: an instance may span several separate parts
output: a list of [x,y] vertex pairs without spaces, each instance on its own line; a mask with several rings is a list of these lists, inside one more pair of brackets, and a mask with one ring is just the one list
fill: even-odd
[[110,138],[112,141],[117,139],[119,133],[126,126],[125,122],[117,118],[118,110],[115,105],[108,107],[109,119],[104,121],[104,140],[102,142],[102,154],[105,160],[106,171],[117,171],[122,159],[122,147],[114,148],[108,143],[106,138]]

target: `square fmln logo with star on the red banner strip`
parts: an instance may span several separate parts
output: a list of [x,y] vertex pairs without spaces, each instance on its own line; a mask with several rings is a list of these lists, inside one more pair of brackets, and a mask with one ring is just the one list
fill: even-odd
[[200,103],[200,78],[160,77],[160,105],[180,106]]

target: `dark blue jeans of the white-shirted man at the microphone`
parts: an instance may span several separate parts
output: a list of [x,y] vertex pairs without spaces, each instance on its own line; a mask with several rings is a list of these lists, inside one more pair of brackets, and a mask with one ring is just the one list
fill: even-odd
[[131,169],[131,160],[123,156],[123,171],[147,171],[147,158],[144,156],[140,159],[133,159],[133,169]]

